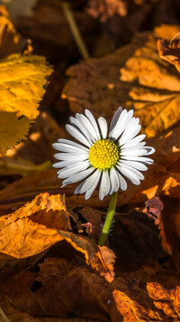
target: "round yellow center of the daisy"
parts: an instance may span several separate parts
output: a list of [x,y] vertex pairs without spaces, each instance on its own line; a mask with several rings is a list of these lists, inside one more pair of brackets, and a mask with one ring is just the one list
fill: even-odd
[[92,166],[105,170],[114,166],[120,158],[120,148],[110,139],[102,139],[89,149],[89,161]]

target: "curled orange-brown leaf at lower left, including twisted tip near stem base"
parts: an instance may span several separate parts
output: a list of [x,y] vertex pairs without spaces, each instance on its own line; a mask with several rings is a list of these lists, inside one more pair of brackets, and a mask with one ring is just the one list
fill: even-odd
[[34,256],[57,242],[65,240],[76,251],[85,255],[85,261],[108,281],[114,277],[112,251],[107,256],[94,242],[71,229],[64,197],[47,193],[37,195],[31,203],[14,213],[0,217],[0,252],[16,259]]

